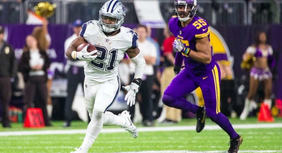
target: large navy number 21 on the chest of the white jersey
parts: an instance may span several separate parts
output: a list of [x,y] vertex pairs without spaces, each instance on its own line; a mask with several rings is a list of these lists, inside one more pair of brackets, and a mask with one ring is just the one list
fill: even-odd
[[[91,61],[90,64],[100,70],[104,71],[113,71],[114,70],[114,63],[117,58],[117,49],[112,49],[108,51],[103,46],[97,46],[95,45],[98,52],[100,52],[100,55],[95,58],[95,60]],[[107,55],[110,56],[109,61],[107,60]],[[107,64],[107,65],[106,65]],[[106,65],[106,66],[105,66]]]

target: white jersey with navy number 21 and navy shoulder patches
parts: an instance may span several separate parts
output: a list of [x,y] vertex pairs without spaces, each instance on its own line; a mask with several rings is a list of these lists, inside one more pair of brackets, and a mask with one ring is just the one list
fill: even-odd
[[96,20],[84,23],[80,36],[98,50],[96,59],[84,64],[85,77],[91,81],[104,82],[115,79],[125,51],[138,47],[138,36],[132,29],[120,27],[118,34],[106,36]]

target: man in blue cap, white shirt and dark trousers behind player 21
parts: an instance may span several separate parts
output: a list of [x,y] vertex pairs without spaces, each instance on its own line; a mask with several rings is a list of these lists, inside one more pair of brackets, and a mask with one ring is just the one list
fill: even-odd
[[[78,19],[73,22],[73,35],[70,36],[69,38],[66,39],[65,41],[65,51],[67,48],[70,46],[71,42],[79,36],[79,32],[81,31],[81,26],[83,25],[83,22]],[[66,102],[65,102],[65,112],[64,112],[64,118],[65,122],[63,124],[64,127],[69,127],[70,122],[72,120],[72,114],[73,111],[71,109],[74,97],[75,97],[75,92],[77,89],[77,86],[79,83],[82,85],[83,89],[83,84],[84,84],[84,61],[79,61],[79,60],[71,60],[68,58],[67,64],[70,66],[69,70],[67,72],[67,80],[68,80],[68,85],[67,85],[67,97],[66,97]]]

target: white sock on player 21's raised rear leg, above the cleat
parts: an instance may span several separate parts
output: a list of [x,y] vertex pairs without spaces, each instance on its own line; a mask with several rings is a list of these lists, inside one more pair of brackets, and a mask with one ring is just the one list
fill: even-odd
[[114,115],[110,111],[105,112],[104,126],[124,126],[126,119],[123,116]]

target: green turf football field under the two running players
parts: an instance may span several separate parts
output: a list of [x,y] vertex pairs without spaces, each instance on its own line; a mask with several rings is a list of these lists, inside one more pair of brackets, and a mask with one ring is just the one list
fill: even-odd
[[[256,118],[247,121],[230,119],[232,124],[256,124]],[[173,126],[195,125],[195,119],[185,119]],[[261,122],[260,122],[261,123]],[[282,123],[282,118],[275,118],[274,123]],[[0,133],[7,131],[24,130],[68,130],[86,129],[87,124],[75,121],[70,128],[62,128],[62,122],[53,122],[53,127],[42,129],[23,129],[21,124],[12,124],[12,129],[0,128]],[[207,119],[207,125],[214,125]],[[169,125],[157,125],[169,126]],[[170,126],[173,128],[173,126]],[[141,126],[140,129],[142,128]],[[109,127],[107,127],[109,128]],[[110,127],[113,128],[113,127]],[[237,129],[243,136],[240,151],[280,151],[282,152],[282,128]],[[79,147],[84,139],[84,134],[63,135],[33,135],[33,136],[0,136],[0,152],[70,152],[74,147]],[[229,138],[223,130],[196,131],[154,131],[139,132],[139,137],[134,139],[127,132],[100,133],[89,152],[135,152],[135,151],[226,151]]]

